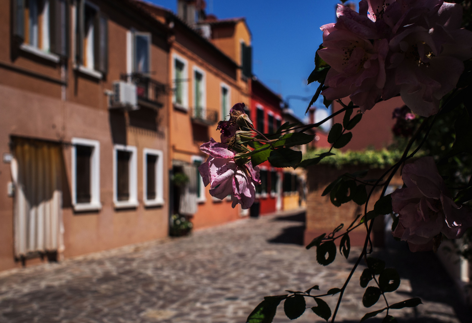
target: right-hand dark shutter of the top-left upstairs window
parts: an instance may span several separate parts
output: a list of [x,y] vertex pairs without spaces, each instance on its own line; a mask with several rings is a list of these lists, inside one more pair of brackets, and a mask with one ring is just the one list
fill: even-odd
[[68,6],[67,0],[50,1],[51,52],[61,57],[68,56]]

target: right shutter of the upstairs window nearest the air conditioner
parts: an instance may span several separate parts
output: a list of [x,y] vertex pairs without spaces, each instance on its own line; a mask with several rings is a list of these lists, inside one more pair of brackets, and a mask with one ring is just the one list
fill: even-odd
[[103,74],[108,72],[108,19],[97,12],[94,28],[94,66]]

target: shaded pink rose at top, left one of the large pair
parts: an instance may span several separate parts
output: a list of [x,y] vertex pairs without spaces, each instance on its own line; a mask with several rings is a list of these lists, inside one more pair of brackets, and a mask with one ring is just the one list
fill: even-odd
[[[326,75],[329,100],[350,96],[362,111],[380,99],[385,84],[388,41],[377,40],[375,23],[354,10],[338,5],[336,24],[321,26],[323,46],[318,55],[331,66]],[[376,39],[370,41],[370,39]]]

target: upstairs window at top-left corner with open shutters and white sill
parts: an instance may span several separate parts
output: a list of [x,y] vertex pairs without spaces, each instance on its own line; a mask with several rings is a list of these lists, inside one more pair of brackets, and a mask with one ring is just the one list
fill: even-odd
[[59,62],[67,56],[66,0],[13,1],[13,34],[20,49]]

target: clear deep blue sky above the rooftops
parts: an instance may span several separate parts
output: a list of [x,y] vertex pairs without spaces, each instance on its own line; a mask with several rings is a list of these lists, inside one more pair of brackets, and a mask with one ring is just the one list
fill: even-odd
[[[176,11],[177,0],[152,0]],[[207,0],[218,18],[246,17],[253,34],[253,73],[284,99],[310,97],[318,83],[306,85],[322,42],[320,26],[335,22],[337,0]],[[290,99],[303,119],[308,102]],[[321,105],[322,106],[322,102]]]

